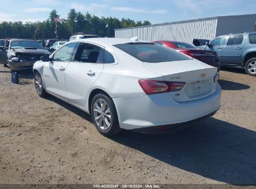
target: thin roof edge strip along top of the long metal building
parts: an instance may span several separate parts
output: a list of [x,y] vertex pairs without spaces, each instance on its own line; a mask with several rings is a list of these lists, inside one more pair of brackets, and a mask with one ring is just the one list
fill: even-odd
[[227,18],[227,17],[246,17],[246,16],[255,16],[256,17],[256,14],[242,14],[242,15],[232,15],[232,16],[206,17],[206,18],[202,18],[202,19],[192,19],[192,20],[187,20],[187,21],[176,21],[176,22],[166,22],[166,23],[162,23],[162,24],[141,25],[141,26],[136,26],[136,27],[125,27],[125,28],[120,28],[120,29],[115,29],[115,30],[126,30],[126,29],[134,29],[134,28],[141,28],[141,27],[153,27],[153,26],[158,26],[158,25],[181,24],[181,23],[187,23],[187,22],[216,20],[216,19],[219,19],[219,18]]

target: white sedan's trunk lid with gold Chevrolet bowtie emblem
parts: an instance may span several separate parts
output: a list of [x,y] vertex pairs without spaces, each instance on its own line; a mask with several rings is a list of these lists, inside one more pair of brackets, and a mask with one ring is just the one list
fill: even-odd
[[214,83],[217,68],[198,60],[145,62],[144,65],[149,70],[163,75],[165,81],[186,82],[182,90],[171,93],[171,96],[178,102],[206,98],[217,89],[216,83]]

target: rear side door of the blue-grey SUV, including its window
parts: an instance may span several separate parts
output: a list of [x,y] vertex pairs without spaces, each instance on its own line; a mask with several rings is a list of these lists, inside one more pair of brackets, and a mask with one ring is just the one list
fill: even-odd
[[242,47],[244,46],[244,35],[229,35],[227,45],[223,47],[222,62],[230,64],[242,63]]

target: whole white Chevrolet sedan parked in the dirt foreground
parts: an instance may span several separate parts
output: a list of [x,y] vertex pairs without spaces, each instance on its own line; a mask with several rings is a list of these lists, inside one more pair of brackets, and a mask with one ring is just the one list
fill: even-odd
[[218,78],[215,67],[129,39],[71,41],[34,64],[39,96],[50,93],[91,114],[105,136],[211,116],[220,108]]

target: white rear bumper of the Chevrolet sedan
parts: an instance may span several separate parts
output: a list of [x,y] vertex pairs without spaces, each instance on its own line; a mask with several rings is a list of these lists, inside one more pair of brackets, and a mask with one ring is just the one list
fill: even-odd
[[178,103],[170,93],[113,98],[120,127],[145,127],[180,124],[202,118],[220,108],[221,89],[206,98]]

